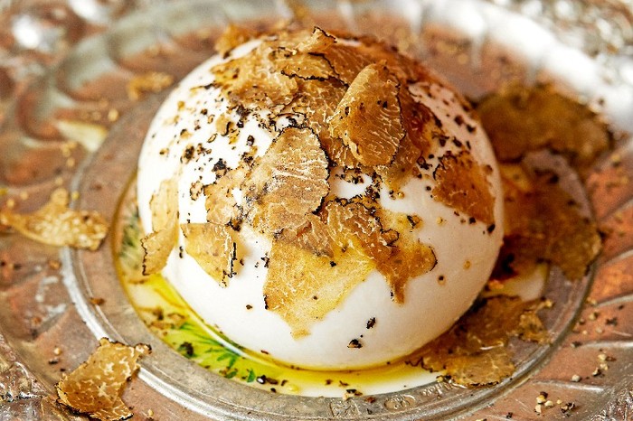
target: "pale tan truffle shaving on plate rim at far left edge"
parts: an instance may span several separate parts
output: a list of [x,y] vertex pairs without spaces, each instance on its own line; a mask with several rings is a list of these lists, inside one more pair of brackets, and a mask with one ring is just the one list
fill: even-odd
[[60,188],[33,213],[0,210],[0,225],[43,244],[96,250],[108,233],[106,220],[96,211],[69,209],[70,199],[69,192]]

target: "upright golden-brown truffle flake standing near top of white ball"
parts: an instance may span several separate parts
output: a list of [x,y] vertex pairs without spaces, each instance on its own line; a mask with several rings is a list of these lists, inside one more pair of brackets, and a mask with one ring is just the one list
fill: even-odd
[[343,140],[361,164],[390,164],[404,128],[398,82],[384,63],[365,67],[329,118],[330,134]]

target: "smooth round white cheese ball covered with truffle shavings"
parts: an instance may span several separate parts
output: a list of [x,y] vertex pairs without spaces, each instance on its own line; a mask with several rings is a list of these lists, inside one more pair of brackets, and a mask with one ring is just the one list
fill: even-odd
[[[216,121],[209,122],[229,109],[220,89],[213,87],[211,69],[222,61],[249,54],[258,44],[259,41],[247,42],[227,58],[214,56],[204,62],[180,82],[156,114],[140,154],[137,174],[138,208],[146,232],[152,230],[149,202],[161,182],[178,178],[180,223],[204,223],[204,195],[192,195],[192,186],[213,183],[216,174],[211,169],[220,160],[229,168],[237,167],[252,143],[257,146],[255,156],[265,154],[279,135],[259,125],[257,113],[245,118],[237,139],[222,136]],[[503,194],[495,156],[483,129],[468,117],[462,103],[444,84],[413,84],[410,91],[417,101],[435,112],[447,133],[468,141],[478,164],[491,169],[487,182],[495,198],[496,229],[481,221],[465,223],[468,215],[432,198],[432,177],[411,177],[403,185],[401,197],[392,197],[389,189],[380,184],[378,203],[383,209],[416,215],[423,221],[416,233],[421,243],[433,249],[436,266],[407,282],[402,303],[392,299],[384,276],[373,270],[341,304],[301,337],[293,336],[288,323],[268,310],[264,302],[269,239],[244,224],[240,231],[243,257],[236,263],[236,275],[228,286],[222,286],[186,253],[181,232],[179,244],[162,273],[206,323],[245,349],[282,363],[316,370],[346,370],[386,364],[411,354],[449,329],[468,310],[490,276],[503,238]],[[232,121],[238,120],[234,112],[229,114]],[[259,114],[266,117],[265,110]],[[466,121],[459,122],[456,116],[463,116]],[[280,120],[277,128],[283,124]],[[192,159],[183,160],[185,148],[191,145],[203,145],[203,150]],[[451,150],[458,152],[457,146],[448,142],[437,155]],[[332,171],[340,172],[340,168]],[[332,176],[329,182],[331,193],[352,198],[362,194],[371,181],[364,175],[360,183]],[[241,192],[236,190],[233,194],[240,204]],[[350,346],[353,343],[360,347]]]

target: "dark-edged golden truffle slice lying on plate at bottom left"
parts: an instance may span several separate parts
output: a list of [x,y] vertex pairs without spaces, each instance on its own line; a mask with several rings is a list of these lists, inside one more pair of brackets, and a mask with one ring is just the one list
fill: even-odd
[[120,395],[139,369],[137,360],[149,346],[134,347],[106,338],[86,362],[64,376],[55,386],[61,404],[103,421],[128,419],[133,415]]

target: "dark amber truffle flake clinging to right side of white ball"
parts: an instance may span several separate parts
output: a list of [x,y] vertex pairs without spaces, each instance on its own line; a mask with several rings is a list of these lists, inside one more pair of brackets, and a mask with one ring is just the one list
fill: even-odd
[[477,164],[468,151],[445,154],[439,158],[433,173],[437,182],[432,191],[433,198],[492,226],[495,223],[495,198],[490,192],[487,172],[487,168]]

